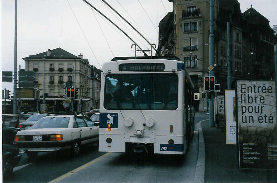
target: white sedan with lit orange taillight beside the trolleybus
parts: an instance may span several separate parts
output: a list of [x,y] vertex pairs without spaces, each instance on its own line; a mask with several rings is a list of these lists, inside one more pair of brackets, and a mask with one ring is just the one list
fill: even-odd
[[99,142],[99,126],[87,116],[46,116],[29,130],[18,131],[15,143],[19,151],[25,151],[30,158],[38,152],[70,150],[77,156],[80,145]]

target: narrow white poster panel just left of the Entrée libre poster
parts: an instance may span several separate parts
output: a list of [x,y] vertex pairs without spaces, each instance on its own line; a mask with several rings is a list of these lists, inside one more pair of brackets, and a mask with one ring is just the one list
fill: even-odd
[[226,144],[237,144],[235,90],[225,90]]

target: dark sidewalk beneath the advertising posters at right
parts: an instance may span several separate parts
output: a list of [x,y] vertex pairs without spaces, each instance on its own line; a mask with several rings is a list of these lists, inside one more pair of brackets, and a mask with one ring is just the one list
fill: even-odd
[[239,169],[237,145],[227,145],[225,133],[209,127],[208,120],[199,128],[205,144],[204,182],[277,182],[277,170]]

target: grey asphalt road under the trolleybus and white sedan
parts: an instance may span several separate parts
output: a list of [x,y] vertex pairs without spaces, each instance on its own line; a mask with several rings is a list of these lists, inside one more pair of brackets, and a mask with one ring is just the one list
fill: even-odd
[[[207,118],[206,112],[196,113],[195,129],[198,121]],[[185,156],[104,154],[98,152],[96,144],[83,146],[77,158],[66,153],[41,152],[30,159],[23,153],[13,176],[3,182],[194,182],[198,131],[194,131]],[[61,178],[67,173],[69,176]]]

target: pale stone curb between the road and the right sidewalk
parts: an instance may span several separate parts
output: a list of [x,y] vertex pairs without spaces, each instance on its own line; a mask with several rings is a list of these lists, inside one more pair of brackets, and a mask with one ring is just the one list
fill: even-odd
[[[209,120],[209,119],[206,119]],[[194,176],[194,182],[204,182],[205,178],[205,143],[204,143],[204,136],[203,131],[201,128],[201,123],[203,121],[199,121],[197,123],[197,129],[198,129],[198,157],[197,157],[197,163],[196,163],[196,169],[195,169],[195,176]]]

